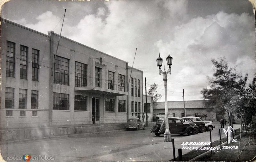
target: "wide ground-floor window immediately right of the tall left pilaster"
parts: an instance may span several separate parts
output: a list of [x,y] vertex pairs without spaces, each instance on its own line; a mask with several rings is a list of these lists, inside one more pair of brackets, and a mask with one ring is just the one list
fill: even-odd
[[53,93],[53,110],[69,110],[68,94]]

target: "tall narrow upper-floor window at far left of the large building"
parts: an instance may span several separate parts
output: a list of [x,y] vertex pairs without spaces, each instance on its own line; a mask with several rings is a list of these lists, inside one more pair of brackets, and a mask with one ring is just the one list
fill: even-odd
[[14,77],[15,71],[15,43],[6,43],[6,77]]

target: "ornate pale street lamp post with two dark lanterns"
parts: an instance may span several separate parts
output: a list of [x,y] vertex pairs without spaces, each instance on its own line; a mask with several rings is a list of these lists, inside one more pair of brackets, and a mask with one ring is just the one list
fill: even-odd
[[164,98],[165,98],[165,132],[164,132],[164,142],[172,142],[172,136],[171,132],[169,130],[169,120],[168,120],[168,107],[167,107],[167,74],[170,73],[171,75],[171,65],[172,65],[172,57],[170,56],[170,53],[168,57],[166,57],[167,65],[169,66],[169,69],[165,71],[164,67],[164,72],[161,70],[161,66],[163,63],[163,59],[159,57],[156,59],[157,66],[159,67],[159,75],[163,74],[164,76]]

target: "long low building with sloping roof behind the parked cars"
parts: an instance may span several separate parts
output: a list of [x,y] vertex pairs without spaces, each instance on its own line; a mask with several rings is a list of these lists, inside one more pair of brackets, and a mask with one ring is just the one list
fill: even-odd
[[[217,120],[217,115],[215,112],[212,112],[211,108],[206,108],[204,106],[204,100],[192,100],[185,101],[185,114],[184,114],[184,104],[183,101],[168,101],[168,113],[173,117],[185,117],[185,116],[196,116],[203,119],[204,115],[207,115],[206,119],[211,121]],[[165,103],[157,102],[156,109],[153,109],[154,114],[165,114]],[[172,114],[171,114],[172,113]]]

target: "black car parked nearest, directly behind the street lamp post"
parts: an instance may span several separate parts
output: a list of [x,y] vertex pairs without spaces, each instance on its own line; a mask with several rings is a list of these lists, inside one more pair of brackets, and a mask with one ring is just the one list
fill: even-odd
[[[178,117],[168,118],[169,120],[169,130],[171,134],[179,134],[179,135],[193,135],[195,133],[195,129],[190,126],[189,123],[183,123],[182,119]],[[156,136],[160,136],[165,132],[165,118],[160,118],[156,121],[156,125],[151,129],[150,133],[155,133]]]

